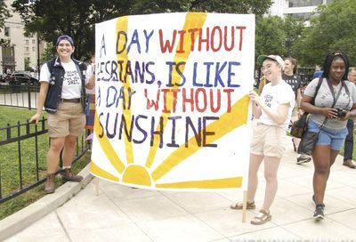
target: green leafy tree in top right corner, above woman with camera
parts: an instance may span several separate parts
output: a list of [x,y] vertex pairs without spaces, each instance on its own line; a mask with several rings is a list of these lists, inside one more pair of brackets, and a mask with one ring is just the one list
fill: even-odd
[[338,0],[321,5],[294,48],[305,65],[322,65],[328,52],[343,50],[356,64],[356,1]]

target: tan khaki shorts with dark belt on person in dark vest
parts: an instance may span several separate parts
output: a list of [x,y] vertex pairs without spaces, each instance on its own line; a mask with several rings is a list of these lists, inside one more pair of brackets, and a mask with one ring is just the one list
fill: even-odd
[[48,134],[50,137],[79,136],[83,133],[84,127],[85,114],[80,102],[60,102],[57,112],[48,114]]

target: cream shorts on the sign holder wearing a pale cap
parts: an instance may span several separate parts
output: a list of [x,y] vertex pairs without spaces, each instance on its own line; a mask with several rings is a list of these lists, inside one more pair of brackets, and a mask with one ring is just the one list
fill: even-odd
[[286,143],[286,131],[279,126],[255,126],[251,141],[251,154],[266,157],[282,157]]

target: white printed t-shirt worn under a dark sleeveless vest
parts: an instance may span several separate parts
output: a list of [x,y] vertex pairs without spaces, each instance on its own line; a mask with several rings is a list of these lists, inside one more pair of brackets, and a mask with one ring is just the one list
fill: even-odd
[[[82,89],[82,81],[80,79],[79,73],[77,72],[76,64],[73,60],[69,62],[61,62],[61,66],[65,70],[63,86],[61,89],[62,99],[77,99],[80,98],[80,93]],[[41,82],[50,82],[51,73],[47,67],[47,63],[41,68]],[[85,80],[85,83],[87,81]],[[51,85],[51,84],[50,84]]]

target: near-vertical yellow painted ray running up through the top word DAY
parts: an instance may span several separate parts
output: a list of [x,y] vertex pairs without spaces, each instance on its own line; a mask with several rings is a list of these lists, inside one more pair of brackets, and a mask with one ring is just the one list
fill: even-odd
[[[127,28],[128,28],[128,17],[121,17],[117,19],[117,29],[116,29],[116,33],[118,33],[119,31],[125,31],[125,33],[127,33]],[[124,38],[120,38],[117,45],[118,46],[122,46],[125,43]],[[123,69],[126,69],[126,65],[125,63],[128,63],[127,61],[129,60],[127,52],[120,52],[117,54],[117,60],[124,60],[123,62]],[[118,74],[117,74],[118,75]],[[127,78],[125,80],[125,82],[123,82],[123,86],[125,88],[125,100],[128,100],[128,93],[127,90],[130,88],[130,75],[127,75]],[[124,109],[123,108],[123,115],[125,117],[125,120],[127,120],[127,124],[131,124],[131,109]],[[126,153],[126,162],[127,164],[132,164],[134,163],[134,149],[133,149],[133,144],[131,141],[129,141],[127,139],[127,137],[125,136],[125,153]]]

